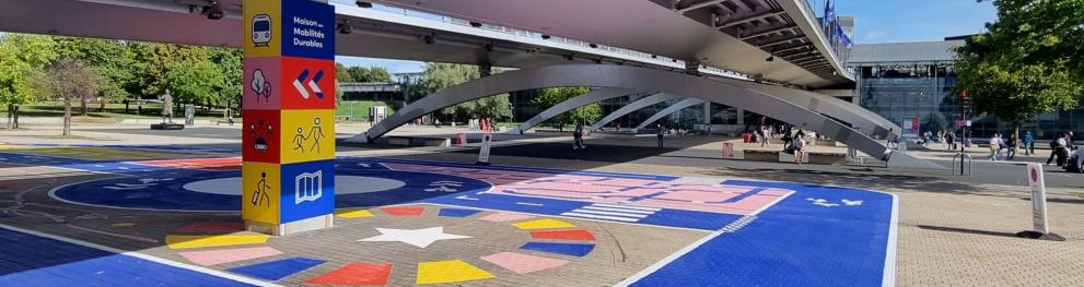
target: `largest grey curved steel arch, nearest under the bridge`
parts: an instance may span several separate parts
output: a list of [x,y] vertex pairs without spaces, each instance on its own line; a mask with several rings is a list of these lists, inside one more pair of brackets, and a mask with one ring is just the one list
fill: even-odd
[[[609,64],[547,65],[477,79],[419,99],[376,123],[365,134],[351,140],[358,141],[363,137],[365,141],[372,142],[373,139],[380,137],[393,128],[415,118],[446,106],[480,97],[480,95],[555,86],[620,87],[685,95],[743,108],[780,119],[797,128],[823,133],[867,155],[888,159],[890,166],[893,162],[899,162],[905,164],[899,167],[943,168],[907,154],[894,154],[891,150],[865,134],[768,93],[695,75]],[[896,159],[897,157],[899,160]]]

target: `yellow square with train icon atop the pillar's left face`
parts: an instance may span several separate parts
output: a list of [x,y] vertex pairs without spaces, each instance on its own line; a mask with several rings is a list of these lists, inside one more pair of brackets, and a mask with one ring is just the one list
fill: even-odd
[[[244,43],[244,55],[246,58],[255,57],[279,57],[282,55],[282,39],[287,34],[282,31],[282,1],[280,0],[245,0],[242,5],[244,19],[241,20],[242,29],[241,43]],[[271,40],[257,45],[256,37],[253,37],[253,20],[259,16],[260,20],[267,16],[271,21]],[[260,21],[263,22],[263,21]],[[263,38],[263,37],[259,37]],[[271,83],[278,83],[278,79],[268,79]]]

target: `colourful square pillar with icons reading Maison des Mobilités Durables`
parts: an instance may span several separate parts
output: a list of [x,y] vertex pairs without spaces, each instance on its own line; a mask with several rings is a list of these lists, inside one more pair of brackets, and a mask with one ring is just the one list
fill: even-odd
[[244,1],[242,218],[288,235],[335,213],[335,9]]

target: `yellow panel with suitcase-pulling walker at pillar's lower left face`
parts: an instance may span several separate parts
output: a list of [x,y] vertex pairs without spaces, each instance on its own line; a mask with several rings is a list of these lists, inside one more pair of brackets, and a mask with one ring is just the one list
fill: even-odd
[[281,178],[281,170],[277,164],[255,162],[241,164],[242,219],[266,224],[279,223],[279,206],[282,203],[280,196],[282,187],[279,187],[282,182]]

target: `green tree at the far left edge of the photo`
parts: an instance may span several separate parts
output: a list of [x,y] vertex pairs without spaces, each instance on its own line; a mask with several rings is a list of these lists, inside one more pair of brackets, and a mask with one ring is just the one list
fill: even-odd
[[0,105],[8,108],[8,128],[19,128],[19,106],[35,100],[31,79],[57,57],[48,36],[7,34],[0,37]]

